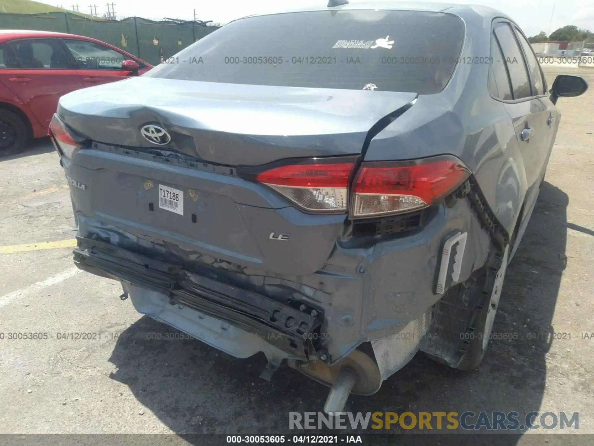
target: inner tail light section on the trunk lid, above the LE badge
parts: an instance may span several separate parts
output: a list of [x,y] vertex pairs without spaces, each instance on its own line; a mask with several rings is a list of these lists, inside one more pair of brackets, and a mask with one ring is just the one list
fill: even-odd
[[[319,161],[319,160],[318,160]],[[308,211],[346,211],[350,172],[354,162],[282,166],[261,172],[256,180]]]

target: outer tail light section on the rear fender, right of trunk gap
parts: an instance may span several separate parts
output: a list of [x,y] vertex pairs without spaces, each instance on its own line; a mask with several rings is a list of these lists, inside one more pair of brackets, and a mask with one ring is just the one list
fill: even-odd
[[425,208],[455,190],[469,175],[462,162],[449,156],[406,163],[363,163],[355,180],[351,216],[365,218]]

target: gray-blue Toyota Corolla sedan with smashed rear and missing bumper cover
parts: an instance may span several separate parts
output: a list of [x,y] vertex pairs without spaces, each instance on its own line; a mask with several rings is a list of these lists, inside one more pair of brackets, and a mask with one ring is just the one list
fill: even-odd
[[[347,3],[222,27],[63,96],[74,262],[235,357],[370,395],[421,350],[482,360],[560,97],[482,7]],[[280,372],[279,372],[280,373]]]

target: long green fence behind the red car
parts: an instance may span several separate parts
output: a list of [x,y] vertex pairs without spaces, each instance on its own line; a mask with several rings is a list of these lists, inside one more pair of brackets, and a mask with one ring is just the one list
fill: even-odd
[[1,13],[0,29],[56,31],[93,37],[157,65],[218,27],[192,21],[178,23],[141,17],[124,20],[90,19],[56,11],[46,14]]

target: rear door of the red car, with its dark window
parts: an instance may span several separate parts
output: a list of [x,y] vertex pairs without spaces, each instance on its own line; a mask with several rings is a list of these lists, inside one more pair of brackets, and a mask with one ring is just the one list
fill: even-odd
[[82,88],[83,82],[58,39],[18,39],[7,45],[8,70],[0,70],[0,81],[48,128],[59,98]]

